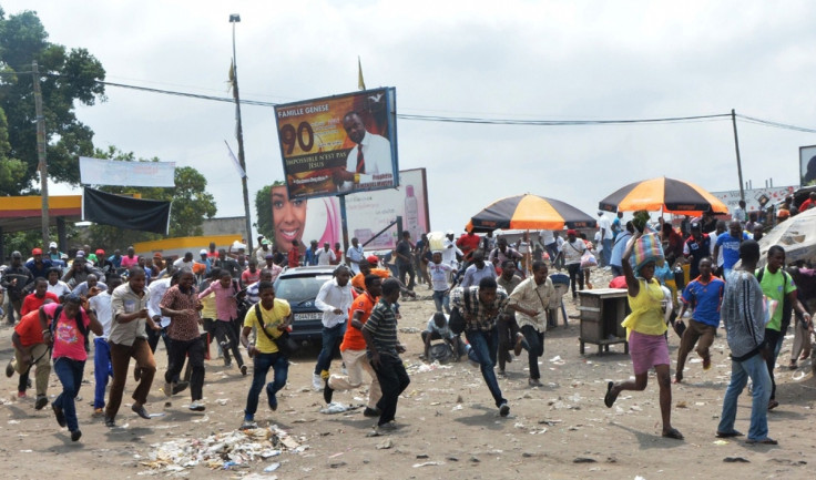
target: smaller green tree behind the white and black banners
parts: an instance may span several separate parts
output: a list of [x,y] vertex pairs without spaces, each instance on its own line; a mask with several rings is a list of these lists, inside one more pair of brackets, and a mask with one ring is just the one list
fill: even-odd
[[[110,159],[122,162],[159,162],[159,159],[136,160],[133,152],[122,152],[115,146],[96,150],[95,159]],[[203,234],[204,218],[212,218],[217,211],[215,198],[206,191],[207,181],[192,166],[175,168],[175,187],[98,186],[99,190],[115,194],[140,194],[142,198],[172,202],[170,208],[170,235],[167,237],[198,236]],[[110,225],[92,225],[89,228],[92,245],[105,251],[124,248],[137,242],[165,238],[149,232],[122,229]]]

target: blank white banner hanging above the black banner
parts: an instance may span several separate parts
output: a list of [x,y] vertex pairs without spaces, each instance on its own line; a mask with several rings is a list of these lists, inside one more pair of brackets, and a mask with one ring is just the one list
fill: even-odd
[[175,162],[123,162],[80,156],[83,185],[175,186]]

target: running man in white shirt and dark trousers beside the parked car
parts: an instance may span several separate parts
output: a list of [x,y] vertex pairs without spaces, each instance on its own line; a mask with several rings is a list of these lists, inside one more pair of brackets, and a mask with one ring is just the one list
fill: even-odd
[[323,284],[315,298],[315,307],[323,312],[323,346],[312,376],[312,387],[316,391],[323,390],[325,379],[329,377],[332,356],[343,341],[348,309],[354,303],[350,278],[351,270],[347,266],[337,266],[334,278]]

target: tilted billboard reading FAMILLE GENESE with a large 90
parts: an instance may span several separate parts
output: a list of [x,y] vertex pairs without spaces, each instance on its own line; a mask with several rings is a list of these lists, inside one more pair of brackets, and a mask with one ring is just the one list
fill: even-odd
[[394,88],[275,106],[289,198],[397,186],[396,119]]

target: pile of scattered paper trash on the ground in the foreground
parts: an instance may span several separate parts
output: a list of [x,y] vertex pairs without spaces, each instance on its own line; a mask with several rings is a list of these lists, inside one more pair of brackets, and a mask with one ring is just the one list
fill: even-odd
[[207,438],[185,438],[153,443],[140,463],[153,470],[178,472],[196,466],[213,470],[249,468],[251,463],[277,457],[283,452],[300,453],[308,449],[286,431],[268,428],[233,430]]

